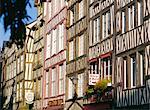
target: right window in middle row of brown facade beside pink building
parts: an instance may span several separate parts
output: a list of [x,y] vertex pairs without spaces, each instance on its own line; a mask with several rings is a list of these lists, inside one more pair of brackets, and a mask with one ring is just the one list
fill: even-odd
[[78,49],[79,56],[82,56],[84,54],[84,35],[79,36],[79,49]]

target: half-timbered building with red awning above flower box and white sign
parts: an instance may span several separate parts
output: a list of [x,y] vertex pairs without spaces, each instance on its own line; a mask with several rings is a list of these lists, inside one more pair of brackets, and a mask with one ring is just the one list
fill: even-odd
[[[98,81],[113,81],[114,0],[89,0],[88,3],[88,86],[93,88]],[[92,104],[96,101],[85,101],[84,106],[93,110],[110,109],[107,101],[100,100],[97,105]]]

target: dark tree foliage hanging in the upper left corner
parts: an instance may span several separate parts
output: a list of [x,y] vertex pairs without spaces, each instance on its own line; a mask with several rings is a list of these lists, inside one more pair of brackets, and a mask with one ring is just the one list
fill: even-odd
[[31,6],[29,0],[0,0],[0,17],[5,32],[10,29],[10,44],[16,43],[18,47],[23,47],[26,38],[26,21],[30,19],[27,5]]

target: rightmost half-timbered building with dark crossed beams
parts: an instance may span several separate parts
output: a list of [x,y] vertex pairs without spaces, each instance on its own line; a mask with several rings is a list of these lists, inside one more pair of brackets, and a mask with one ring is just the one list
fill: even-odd
[[149,109],[150,1],[116,0],[116,107]]

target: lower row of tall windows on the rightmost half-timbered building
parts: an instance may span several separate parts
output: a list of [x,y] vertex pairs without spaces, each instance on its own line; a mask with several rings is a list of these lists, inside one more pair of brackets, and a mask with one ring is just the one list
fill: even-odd
[[124,89],[143,86],[145,76],[144,51],[125,56],[122,61]]

